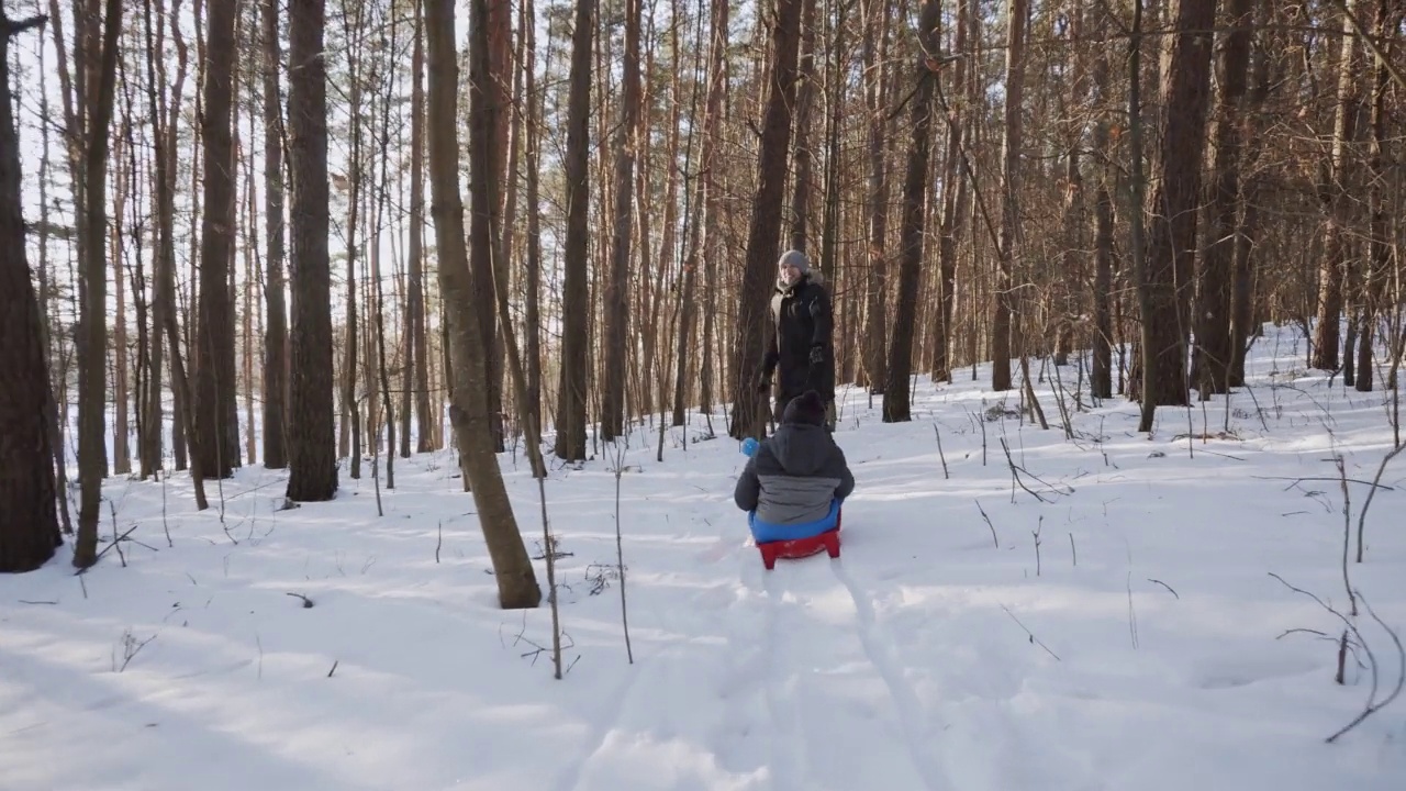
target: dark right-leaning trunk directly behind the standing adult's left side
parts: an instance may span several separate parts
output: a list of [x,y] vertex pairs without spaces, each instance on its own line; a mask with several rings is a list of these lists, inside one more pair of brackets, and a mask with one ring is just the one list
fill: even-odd
[[776,0],[772,23],[772,66],[766,82],[766,114],[756,151],[756,194],[747,234],[747,267],[735,335],[733,336],[733,425],[741,439],[762,434],[765,408],[755,372],[762,366],[762,349],[769,338],[768,284],[775,277],[782,207],[786,197],[786,165],[792,138],[792,108],[796,107],[796,51],[800,48],[801,0]]

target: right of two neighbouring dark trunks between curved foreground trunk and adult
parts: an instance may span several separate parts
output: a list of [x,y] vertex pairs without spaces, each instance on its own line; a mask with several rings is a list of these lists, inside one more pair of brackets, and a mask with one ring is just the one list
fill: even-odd
[[[616,127],[614,231],[605,298],[606,376],[600,391],[600,438],[624,432],[624,369],[630,355],[630,232],[634,229],[634,156],[640,131],[640,0],[624,0],[624,62],[620,125]],[[640,239],[648,243],[648,239]],[[662,267],[661,267],[662,272]]]

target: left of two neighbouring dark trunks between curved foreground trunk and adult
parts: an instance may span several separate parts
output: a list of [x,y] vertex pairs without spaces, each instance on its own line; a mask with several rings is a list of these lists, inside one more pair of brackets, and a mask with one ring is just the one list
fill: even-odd
[[557,457],[586,457],[586,374],[591,291],[588,283],[591,184],[592,0],[576,0],[567,99],[567,239],[561,286],[561,379],[557,388]]

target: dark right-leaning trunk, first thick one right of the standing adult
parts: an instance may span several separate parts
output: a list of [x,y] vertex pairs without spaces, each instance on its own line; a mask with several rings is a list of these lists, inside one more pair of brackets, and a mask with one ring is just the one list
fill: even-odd
[[[912,62],[912,142],[908,148],[908,172],[903,183],[903,228],[900,231],[898,304],[889,343],[887,381],[883,388],[883,421],[911,419],[910,376],[912,373],[912,336],[918,318],[918,286],[922,277],[922,235],[927,221],[929,159],[932,149],[932,93],[938,82],[942,46],[942,4],[928,0],[918,17],[918,52]],[[1018,96],[1018,94],[1017,94]],[[943,184],[952,189],[952,184]]]

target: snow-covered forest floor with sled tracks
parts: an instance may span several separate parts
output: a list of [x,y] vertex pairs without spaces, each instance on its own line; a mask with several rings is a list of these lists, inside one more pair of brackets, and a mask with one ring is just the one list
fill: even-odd
[[[0,577],[0,788],[1400,791],[1406,700],[1324,739],[1402,654],[1364,608],[1371,659],[1351,640],[1334,683],[1344,624],[1285,584],[1348,612],[1333,455],[1355,553],[1385,394],[1303,352],[1271,328],[1229,419],[1223,398],[1163,410],[1152,439],[1122,400],[1066,439],[1047,380],[1049,431],[969,370],[920,380],[908,424],[846,391],[842,557],[775,571],[731,502],[738,443],[693,442],[696,417],[657,463],[644,426],[619,477],[633,664],[616,462],[547,484],[560,681],[547,607],[495,607],[449,453],[398,460],[384,517],[368,466],[292,511],[284,474],[245,469],[222,518],[214,484],[197,514],[184,477],[114,479],[124,557]],[[536,483],[520,455],[503,470],[540,557]],[[1348,574],[1406,635],[1406,455],[1381,484]]]

